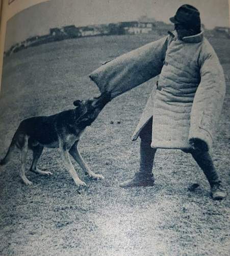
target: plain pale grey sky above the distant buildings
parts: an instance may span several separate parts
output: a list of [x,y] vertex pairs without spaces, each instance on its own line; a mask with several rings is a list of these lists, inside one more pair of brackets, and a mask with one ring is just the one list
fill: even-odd
[[208,29],[229,26],[228,0],[49,0],[23,10],[7,23],[5,50],[49,28],[136,20],[142,15],[170,23],[178,7],[195,6]]

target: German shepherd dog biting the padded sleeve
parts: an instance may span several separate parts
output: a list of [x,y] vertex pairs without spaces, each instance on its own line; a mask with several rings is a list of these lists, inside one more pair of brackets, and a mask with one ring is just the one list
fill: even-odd
[[36,116],[24,119],[19,124],[8,152],[5,158],[0,161],[0,165],[4,165],[9,161],[14,148],[19,148],[21,153],[20,177],[24,184],[31,185],[32,182],[25,176],[25,161],[28,150],[33,152],[31,172],[40,175],[52,175],[50,172],[38,169],[37,162],[44,147],[59,148],[62,160],[78,187],[86,186],[86,183],[76,174],[69,154],[79,163],[89,177],[104,179],[102,175],[95,174],[90,170],[78,151],[78,143],[85,128],[96,119],[110,100],[110,93],[105,92],[97,98],[74,101],[75,109],[63,111],[52,116]]

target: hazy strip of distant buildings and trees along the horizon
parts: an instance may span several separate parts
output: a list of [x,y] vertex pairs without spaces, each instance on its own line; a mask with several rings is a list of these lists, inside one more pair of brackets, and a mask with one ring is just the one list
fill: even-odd
[[[215,27],[213,30],[206,30],[201,24],[202,30],[209,37],[229,37],[230,29],[228,27]],[[79,38],[86,36],[102,36],[102,35],[124,35],[124,34],[147,34],[156,33],[158,35],[166,35],[168,31],[174,30],[173,24],[159,22],[155,18],[141,16],[138,20],[130,22],[110,23],[91,25],[84,27],[76,27],[75,25],[65,26],[62,28],[50,28],[49,34],[42,36],[29,37],[25,41],[17,43],[4,53],[4,56],[9,56],[12,53],[22,49],[47,44],[48,42],[64,40],[68,38]]]

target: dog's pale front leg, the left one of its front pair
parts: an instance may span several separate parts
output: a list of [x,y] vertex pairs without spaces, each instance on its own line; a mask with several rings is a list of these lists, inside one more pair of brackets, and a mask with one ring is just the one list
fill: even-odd
[[60,142],[59,144],[60,144],[59,150],[60,150],[60,153],[61,153],[62,160],[64,161],[65,166],[68,169],[69,174],[71,175],[75,184],[77,186],[86,186],[86,183],[78,177],[78,174],[76,174],[76,171],[75,171],[75,169],[74,169],[74,167],[73,167],[73,165],[72,165],[72,163],[69,159],[68,148],[66,148],[66,146],[62,142]]

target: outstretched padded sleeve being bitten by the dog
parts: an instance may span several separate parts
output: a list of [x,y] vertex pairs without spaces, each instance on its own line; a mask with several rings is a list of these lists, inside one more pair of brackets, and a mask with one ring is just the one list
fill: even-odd
[[94,70],[89,77],[100,92],[114,98],[160,74],[167,50],[168,37],[150,42],[123,54]]

